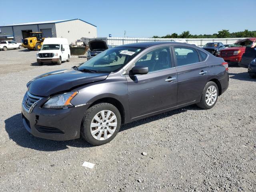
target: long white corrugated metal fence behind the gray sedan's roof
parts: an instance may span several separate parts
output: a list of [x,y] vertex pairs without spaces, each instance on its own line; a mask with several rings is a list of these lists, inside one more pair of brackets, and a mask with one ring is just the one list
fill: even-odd
[[[196,44],[197,46],[204,46],[208,42],[222,42],[223,44],[233,44],[237,40],[241,38],[202,38],[202,39],[174,39],[174,38],[123,38],[123,37],[108,37],[108,45],[118,46],[128,43],[136,43],[136,42],[147,42],[147,41],[180,41],[186,40],[187,43]],[[244,38],[242,38],[244,39]]]

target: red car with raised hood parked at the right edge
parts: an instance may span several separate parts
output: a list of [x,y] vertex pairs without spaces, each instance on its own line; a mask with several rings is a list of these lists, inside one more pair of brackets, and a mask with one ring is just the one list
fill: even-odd
[[254,46],[256,46],[256,38],[242,39],[232,44],[229,48],[218,51],[218,57],[222,57],[230,64],[239,63],[245,52],[245,48],[253,48]]

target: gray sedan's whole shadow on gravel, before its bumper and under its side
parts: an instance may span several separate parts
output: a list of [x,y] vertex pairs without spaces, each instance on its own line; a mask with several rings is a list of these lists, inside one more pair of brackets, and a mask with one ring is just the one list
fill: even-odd
[[[120,131],[125,131],[130,128],[134,128],[136,126],[140,126],[142,124],[146,124],[146,123],[156,121],[162,118],[166,118],[175,114],[186,112],[188,110],[202,110],[202,109],[198,108],[196,105],[187,106],[184,108],[154,115],[142,120],[138,120],[135,122],[122,125]],[[93,147],[91,144],[84,141],[83,139],[75,139],[70,141],[53,141],[53,140],[47,140],[43,138],[37,138],[32,134],[30,134],[29,132],[27,132],[27,130],[24,128],[21,114],[16,114],[6,119],[4,122],[5,122],[5,130],[8,133],[9,138],[14,142],[16,142],[16,144],[18,144],[19,146],[22,146],[25,148],[30,148],[30,149],[39,150],[39,151],[59,151],[59,150],[67,149],[68,146],[78,147],[78,148]]]

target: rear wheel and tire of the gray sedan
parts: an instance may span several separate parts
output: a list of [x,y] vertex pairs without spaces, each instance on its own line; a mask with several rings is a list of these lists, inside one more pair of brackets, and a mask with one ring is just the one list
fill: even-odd
[[216,83],[209,81],[204,86],[200,102],[197,106],[203,109],[211,109],[214,107],[218,100],[219,90]]

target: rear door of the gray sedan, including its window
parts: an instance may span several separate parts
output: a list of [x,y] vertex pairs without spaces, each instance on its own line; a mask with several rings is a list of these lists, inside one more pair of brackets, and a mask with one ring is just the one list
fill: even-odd
[[202,95],[208,78],[209,67],[206,58],[203,61],[198,55],[200,50],[189,46],[174,46],[173,50],[178,76],[177,104],[194,102]]

